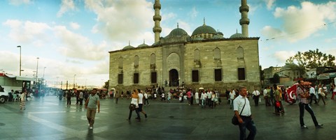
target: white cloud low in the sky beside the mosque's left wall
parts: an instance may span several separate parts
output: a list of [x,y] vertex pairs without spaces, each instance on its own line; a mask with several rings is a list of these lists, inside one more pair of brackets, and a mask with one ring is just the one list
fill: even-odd
[[106,42],[94,45],[89,38],[73,33],[65,26],[55,26],[55,36],[62,41],[64,46],[61,46],[59,51],[65,56],[94,61],[102,60],[108,56]]

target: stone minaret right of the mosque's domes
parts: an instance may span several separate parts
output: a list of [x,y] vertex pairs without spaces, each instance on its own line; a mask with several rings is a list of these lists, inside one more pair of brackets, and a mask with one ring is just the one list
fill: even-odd
[[247,17],[248,6],[246,0],[241,0],[239,12],[241,13],[241,19],[239,20],[239,24],[241,25],[241,33],[244,37],[248,38],[248,24],[250,24],[250,20]]

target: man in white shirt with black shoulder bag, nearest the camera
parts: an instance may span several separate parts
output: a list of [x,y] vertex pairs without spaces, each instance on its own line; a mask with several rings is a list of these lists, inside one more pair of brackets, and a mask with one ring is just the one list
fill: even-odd
[[[233,100],[233,110],[239,121],[240,140],[253,140],[257,134],[257,128],[252,120],[251,106],[246,95],[246,87],[239,87],[239,96]],[[250,131],[247,138],[246,129]]]

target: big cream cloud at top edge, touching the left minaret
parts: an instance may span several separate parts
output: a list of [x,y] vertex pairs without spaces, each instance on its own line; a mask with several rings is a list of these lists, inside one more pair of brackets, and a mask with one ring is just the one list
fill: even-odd
[[145,31],[153,28],[153,3],[145,0],[85,0],[85,7],[97,14],[92,32],[104,33],[111,40],[127,42],[142,38]]

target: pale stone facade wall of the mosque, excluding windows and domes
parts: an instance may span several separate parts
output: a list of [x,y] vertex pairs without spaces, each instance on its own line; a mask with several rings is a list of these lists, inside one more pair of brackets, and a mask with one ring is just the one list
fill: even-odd
[[[244,49],[244,57],[238,58],[237,48]],[[214,49],[220,50],[221,58],[214,58]],[[195,49],[200,50],[200,61],[194,61]],[[151,54],[155,54],[155,70],[151,68]],[[139,65],[134,67],[134,56],[139,56]],[[160,47],[141,47],[110,52],[110,87],[125,90],[127,88],[151,87],[151,72],[158,75],[158,84],[162,86],[169,79],[169,70],[179,72],[180,84],[192,88],[227,88],[247,86],[260,87],[258,38],[239,38],[183,42]],[[119,58],[123,57],[123,69],[118,68]],[[174,57],[174,58],[173,58]],[[179,58],[177,58],[179,57]],[[172,64],[179,60],[178,65]],[[222,81],[215,81],[214,70],[222,70]],[[245,68],[246,79],[238,80],[238,68]],[[199,70],[199,82],[192,82],[192,70]],[[134,72],[139,73],[139,84],[133,84]],[[118,74],[123,73],[123,84],[118,84]],[[117,91],[118,91],[117,89]]]

